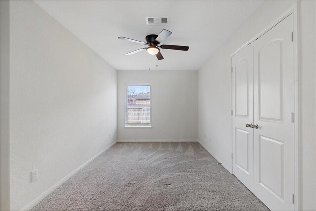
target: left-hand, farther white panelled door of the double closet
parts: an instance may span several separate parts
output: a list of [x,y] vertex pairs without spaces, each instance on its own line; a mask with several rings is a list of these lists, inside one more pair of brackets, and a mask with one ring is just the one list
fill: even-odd
[[233,173],[253,191],[253,46],[249,44],[232,58]]

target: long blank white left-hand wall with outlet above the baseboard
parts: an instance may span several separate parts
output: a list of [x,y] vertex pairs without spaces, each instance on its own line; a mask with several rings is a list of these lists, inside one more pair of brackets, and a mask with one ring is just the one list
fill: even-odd
[[[19,210],[115,142],[117,71],[33,1],[9,4],[10,99],[3,103],[10,209]],[[31,183],[34,169],[39,178]]]

